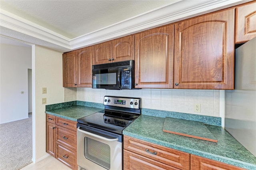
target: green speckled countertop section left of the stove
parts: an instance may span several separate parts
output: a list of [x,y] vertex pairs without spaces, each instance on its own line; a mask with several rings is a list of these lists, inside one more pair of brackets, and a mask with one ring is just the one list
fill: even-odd
[[75,105],[45,111],[45,113],[77,122],[77,119],[96,113],[100,110],[102,110],[102,108],[92,108],[88,106]]

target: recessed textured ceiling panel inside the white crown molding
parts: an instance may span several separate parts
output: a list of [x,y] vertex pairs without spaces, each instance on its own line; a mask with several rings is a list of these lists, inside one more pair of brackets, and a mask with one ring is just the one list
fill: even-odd
[[0,0],[3,10],[76,38],[179,0]]

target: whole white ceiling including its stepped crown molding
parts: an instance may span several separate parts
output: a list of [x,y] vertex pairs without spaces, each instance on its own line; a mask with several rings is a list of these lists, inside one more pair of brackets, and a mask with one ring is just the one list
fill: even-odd
[[242,0],[0,0],[0,34],[61,52],[244,3]]

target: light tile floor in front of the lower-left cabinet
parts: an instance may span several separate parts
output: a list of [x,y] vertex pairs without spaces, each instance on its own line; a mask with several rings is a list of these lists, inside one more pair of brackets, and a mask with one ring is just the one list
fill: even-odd
[[47,156],[36,164],[31,163],[20,170],[71,170],[68,166],[56,160],[52,156]]

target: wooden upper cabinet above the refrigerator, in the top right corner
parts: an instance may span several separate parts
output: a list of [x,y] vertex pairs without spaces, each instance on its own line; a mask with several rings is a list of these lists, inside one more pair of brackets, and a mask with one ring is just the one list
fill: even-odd
[[236,42],[242,43],[256,37],[256,1],[236,8]]

